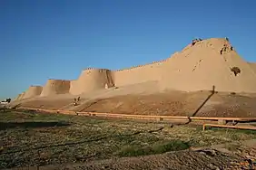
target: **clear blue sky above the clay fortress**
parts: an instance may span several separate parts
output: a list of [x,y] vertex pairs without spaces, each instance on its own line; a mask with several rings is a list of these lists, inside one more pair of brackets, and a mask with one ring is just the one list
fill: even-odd
[[255,8],[253,0],[1,0],[0,98],[77,79],[86,67],[159,61],[198,37],[227,36],[256,61]]

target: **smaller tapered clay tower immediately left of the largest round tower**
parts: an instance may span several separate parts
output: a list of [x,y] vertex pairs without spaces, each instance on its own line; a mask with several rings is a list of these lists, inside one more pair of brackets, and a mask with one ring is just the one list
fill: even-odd
[[41,97],[51,96],[55,94],[68,93],[70,89],[70,80],[47,80],[43,87]]

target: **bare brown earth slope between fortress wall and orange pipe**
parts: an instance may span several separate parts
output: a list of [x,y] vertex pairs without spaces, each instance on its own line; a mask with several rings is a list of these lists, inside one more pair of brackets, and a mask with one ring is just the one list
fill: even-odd
[[[138,115],[256,117],[256,97],[212,91],[171,91],[155,94],[130,94],[97,99],[81,98],[69,110]],[[73,99],[40,100],[22,103],[27,108],[62,109]],[[84,102],[85,101],[85,102]]]

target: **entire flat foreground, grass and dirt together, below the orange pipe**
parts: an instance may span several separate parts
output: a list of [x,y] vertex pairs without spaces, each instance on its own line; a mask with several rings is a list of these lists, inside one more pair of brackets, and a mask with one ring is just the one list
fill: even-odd
[[[202,126],[190,124],[28,110],[0,114],[1,169],[239,169],[246,157],[254,161],[256,156],[256,142],[250,147],[241,146],[244,140],[256,137],[254,131],[202,131]],[[207,149],[234,141],[236,146],[224,146],[229,152]],[[202,146],[206,146],[202,151],[192,150]]]

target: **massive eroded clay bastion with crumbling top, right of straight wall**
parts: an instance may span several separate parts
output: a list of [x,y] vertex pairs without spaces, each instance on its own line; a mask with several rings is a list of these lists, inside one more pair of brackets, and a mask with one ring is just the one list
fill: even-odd
[[[226,50],[222,51],[224,44]],[[222,52],[221,52],[222,51]],[[231,68],[241,71],[237,75]],[[212,38],[185,48],[162,67],[162,89],[256,92],[256,74],[232,49],[230,42]]]

